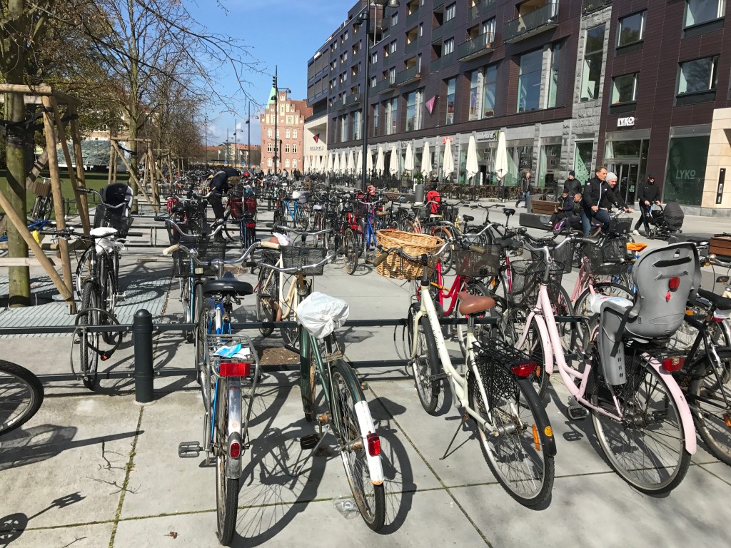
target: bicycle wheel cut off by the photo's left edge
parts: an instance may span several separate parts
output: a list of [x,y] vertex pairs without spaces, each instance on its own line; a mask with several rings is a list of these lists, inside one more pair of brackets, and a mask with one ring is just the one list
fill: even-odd
[[43,385],[26,368],[0,359],[0,435],[28,422],[43,403]]

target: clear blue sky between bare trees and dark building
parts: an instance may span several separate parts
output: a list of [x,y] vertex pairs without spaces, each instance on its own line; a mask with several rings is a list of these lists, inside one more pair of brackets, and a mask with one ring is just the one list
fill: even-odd
[[[271,89],[274,67],[278,68],[279,87],[292,90],[292,99],[307,98],[307,61],[325,43],[330,33],[345,20],[356,0],[216,0],[189,2],[194,18],[211,32],[229,34],[247,47],[251,61],[259,61],[260,72],[245,72],[243,88],[254,101],[265,104]],[[238,90],[235,77],[225,77],[219,87],[224,94]],[[241,95],[241,94],[239,94]],[[238,142],[246,143],[247,104],[236,101],[230,107],[222,104],[208,107],[208,145],[230,139],[236,126]],[[251,105],[254,116],[254,104]],[[260,143],[258,120],[251,120],[251,143]]]

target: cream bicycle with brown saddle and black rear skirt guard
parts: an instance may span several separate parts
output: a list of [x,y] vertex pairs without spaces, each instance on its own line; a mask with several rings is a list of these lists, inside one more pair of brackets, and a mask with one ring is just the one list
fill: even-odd
[[[452,365],[439,313],[428,291],[430,265],[449,245],[444,243],[422,256],[398,247],[379,248],[382,254],[374,261],[378,266],[395,254],[402,263],[421,267],[421,298],[409,305],[406,319],[411,347],[408,367],[417,395],[424,410],[433,415],[441,384],[449,379],[455,403],[477,426],[477,439],[493,475],[516,501],[536,506],[550,495],[556,455],[548,415],[529,381],[536,363],[509,345],[480,346],[474,336],[474,316],[489,311],[495,301],[463,292],[459,313],[467,316],[466,370],[461,373]],[[386,268],[394,264],[395,258]]]

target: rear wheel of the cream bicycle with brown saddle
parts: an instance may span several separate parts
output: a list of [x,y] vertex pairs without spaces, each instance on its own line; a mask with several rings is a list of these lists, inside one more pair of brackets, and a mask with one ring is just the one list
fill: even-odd
[[470,407],[488,422],[487,431],[477,425],[482,455],[512,498],[536,506],[550,495],[555,474],[553,455],[545,450],[547,435],[553,442],[548,416],[529,381],[501,365],[481,367],[480,376],[488,401],[474,374],[468,390]]

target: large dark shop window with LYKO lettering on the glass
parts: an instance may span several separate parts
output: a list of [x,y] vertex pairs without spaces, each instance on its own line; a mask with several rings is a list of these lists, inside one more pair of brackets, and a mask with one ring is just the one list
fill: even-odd
[[667,153],[663,202],[700,205],[710,137],[672,137]]

